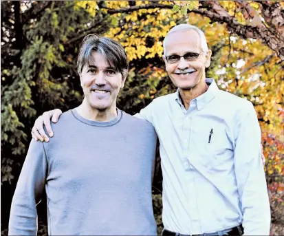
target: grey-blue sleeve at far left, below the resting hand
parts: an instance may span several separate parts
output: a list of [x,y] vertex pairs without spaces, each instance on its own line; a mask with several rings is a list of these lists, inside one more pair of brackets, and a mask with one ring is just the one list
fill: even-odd
[[36,235],[36,204],[41,200],[46,175],[43,143],[32,139],[14,192],[8,235]]

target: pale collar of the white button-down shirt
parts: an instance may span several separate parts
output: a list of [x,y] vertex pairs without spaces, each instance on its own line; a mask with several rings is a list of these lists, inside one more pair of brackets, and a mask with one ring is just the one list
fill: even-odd
[[[199,95],[197,98],[193,99],[193,102],[197,102],[197,109],[201,110],[203,107],[210,102],[215,96],[217,95],[217,92],[219,91],[219,88],[214,81],[213,78],[206,78],[206,83],[209,85],[208,90],[204,93]],[[179,105],[182,105],[182,99],[179,96],[179,89],[177,89],[177,92],[175,92],[175,100]]]

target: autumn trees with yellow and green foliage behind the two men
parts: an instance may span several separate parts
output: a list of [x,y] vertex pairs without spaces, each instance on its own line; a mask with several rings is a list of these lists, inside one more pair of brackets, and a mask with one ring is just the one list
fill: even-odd
[[[262,129],[272,235],[284,235],[284,10],[278,1],[1,1],[1,235],[28,151],[34,120],[43,111],[80,104],[76,57],[86,34],[119,41],[129,56],[118,107],[135,114],[153,98],[175,92],[164,71],[162,40],[190,23],[212,50],[207,76],[220,89],[250,100]],[[157,151],[157,157],[159,153]],[[162,175],[153,206],[162,230]],[[47,235],[46,202],[39,235]]]

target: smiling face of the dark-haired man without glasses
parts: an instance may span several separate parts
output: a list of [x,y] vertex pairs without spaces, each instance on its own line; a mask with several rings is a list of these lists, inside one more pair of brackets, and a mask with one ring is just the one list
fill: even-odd
[[122,81],[122,74],[109,65],[102,54],[93,52],[92,56],[94,63],[85,64],[80,74],[85,99],[93,109],[109,109],[116,104],[125,79]]

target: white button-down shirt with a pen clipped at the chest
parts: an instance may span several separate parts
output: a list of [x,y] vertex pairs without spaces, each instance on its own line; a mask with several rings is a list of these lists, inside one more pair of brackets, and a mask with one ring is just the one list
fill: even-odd
[[160,140],[164,228],[195,235],[243,224],[245,235],[269,235],[254,107],[219,90],[214,80],[206,82],[208,91],[190,101],[188,110],[177,91],[135,115],[151,122]]

